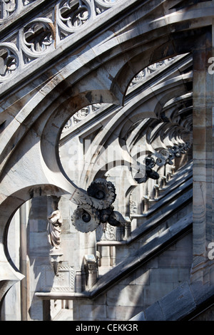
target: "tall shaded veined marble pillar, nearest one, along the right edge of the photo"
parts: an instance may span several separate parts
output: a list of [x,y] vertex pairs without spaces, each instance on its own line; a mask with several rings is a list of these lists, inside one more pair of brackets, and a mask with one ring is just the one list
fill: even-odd
[[208,257],[214,242],[214,56],[211,33],[203,36],[193,52],[193,264],[192,282],[214,284],[213,260]]

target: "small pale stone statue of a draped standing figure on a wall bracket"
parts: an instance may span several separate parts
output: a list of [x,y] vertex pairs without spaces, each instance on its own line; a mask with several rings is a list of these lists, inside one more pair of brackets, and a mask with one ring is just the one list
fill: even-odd
[[49,243],[54,249],[61,249],[61,225],[63,223],[61,212],[56,209],[48,217],[49,224],[47,228]]

